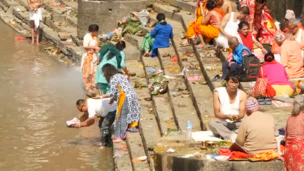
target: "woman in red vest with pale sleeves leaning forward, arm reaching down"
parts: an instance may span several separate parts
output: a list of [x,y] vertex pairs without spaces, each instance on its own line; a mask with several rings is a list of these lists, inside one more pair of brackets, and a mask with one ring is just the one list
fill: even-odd
[[[258,42],[251,32],[249,32],[249,23],[245,21],[241,21],[238,24],[238,33],[236,34],[236,38],[239,43],[244,44],[248,47],[251,52],[260,60],[264,60],[264,55],[267,53],[267,50],[263,47],[263,45]],[[258,48],[253,49],[253,45],[256,45]]]

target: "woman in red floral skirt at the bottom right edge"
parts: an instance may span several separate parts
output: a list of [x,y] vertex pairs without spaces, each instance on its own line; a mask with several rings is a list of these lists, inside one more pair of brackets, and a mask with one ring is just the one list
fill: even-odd
[[285,167],[287,171],[304,170],[304,96],[293,100],[291,116],[285,128]]

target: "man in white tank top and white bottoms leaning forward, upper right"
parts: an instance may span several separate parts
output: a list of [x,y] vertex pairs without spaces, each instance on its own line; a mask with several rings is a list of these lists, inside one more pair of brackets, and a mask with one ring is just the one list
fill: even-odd
[[249,8],[242,6],[237,12],[229,12],[224,15],[219,26],[217,46],[228,48],[228,37],[237,34],[238,23],[249,15]]

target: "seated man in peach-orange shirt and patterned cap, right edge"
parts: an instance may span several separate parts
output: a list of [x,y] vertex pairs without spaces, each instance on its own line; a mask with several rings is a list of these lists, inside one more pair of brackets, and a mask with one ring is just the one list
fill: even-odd
[[280,46],[280,63],[285,67],[288,77],[304,77],[304,63],[300,45],[295,40],[285,39],[282,32],[276,32],[275,42]]

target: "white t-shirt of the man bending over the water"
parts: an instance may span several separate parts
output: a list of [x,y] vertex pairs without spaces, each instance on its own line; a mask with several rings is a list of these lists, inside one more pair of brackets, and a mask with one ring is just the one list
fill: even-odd
[[86,101],[88,117],[92,117],[94,115],[105,117],[108,112],[117,109],[117,103],[113,102],[112,104],[109,104],[110,98],[88,98]]

